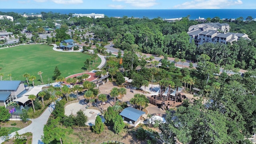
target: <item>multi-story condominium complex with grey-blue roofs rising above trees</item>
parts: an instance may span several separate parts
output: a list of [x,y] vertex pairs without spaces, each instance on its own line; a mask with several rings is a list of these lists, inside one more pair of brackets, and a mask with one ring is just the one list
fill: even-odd
[[194,40],[196,46],[205,42],[227,44],[240,38],[251,40],[247,34],[229,32],[229,29],[229,24],[207,23],[190,26],[187,33],[190,36],[190,42]]

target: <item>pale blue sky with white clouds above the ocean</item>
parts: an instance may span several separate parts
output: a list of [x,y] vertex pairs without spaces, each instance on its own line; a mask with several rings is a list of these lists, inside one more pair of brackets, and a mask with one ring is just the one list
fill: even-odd
[[255,0],[0,0],[1,8],[255,9]]

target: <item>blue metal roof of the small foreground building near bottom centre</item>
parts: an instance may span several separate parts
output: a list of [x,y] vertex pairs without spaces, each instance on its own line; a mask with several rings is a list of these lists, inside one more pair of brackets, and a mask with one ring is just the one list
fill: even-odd
[[120,115],[124,116],[126,118],[129,118],[130,120],[137,121],[142,114],[146,114],[145,112],[141,110],[137,110],[132,107],[125,108]]

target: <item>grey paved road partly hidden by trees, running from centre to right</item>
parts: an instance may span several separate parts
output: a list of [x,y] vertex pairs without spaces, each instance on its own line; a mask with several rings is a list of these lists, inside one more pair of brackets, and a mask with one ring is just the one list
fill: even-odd
[[[113,48],[113,43],[112,42],[110,42],[110,44],[109,45],[106,45],[106,46],[104,46],[107,50],[107,52],[112,52],[112,54],[118,54],[118,49],[117,48]],[[122,52],[122,54],[124,54],[124,51],[123,50],[121,50],[121,52]],[[144,54],[144,53],[142,53],[142,54]],[[146,57],[148,58],[148,57],[150,57],[150,56],[152,56],[152,54],[144,54],[144,55],[146,55]],[[154,55],[153,55],[154,56]],[[157,57],[157,56],[154,56],[154,60],[161,60],[163,57]],[[174,59],[175,58],[170,58],[170,57],[168,57],[168,60],[170,61],[170,62],[174,62]],[[186,62],[184,62],[183,64],[182,64],[182,62],[177,62],[177,67],[179,67],[179,68],[182,68],[182,67],[189,67],[189,63],[190,63],[190,61],[189,60],[186,60]],[[193,64],[193,67],[194,68],[196,68],[197,67],[197,64],[196,63],[192,63]],[[176,64],[175,64],[176,65]],[[222,73],[224,71],[224,69],[223,68],[220,68],[220,73]],[[244,72],[246,72],[246,70],[240,70],[240,74],[243,74]],[[235,74],[234,72],[230,72],[229,74]]]

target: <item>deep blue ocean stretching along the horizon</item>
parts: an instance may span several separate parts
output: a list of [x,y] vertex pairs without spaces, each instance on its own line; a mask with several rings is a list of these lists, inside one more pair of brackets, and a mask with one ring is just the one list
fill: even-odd
[[108,17],[134,17],[134,18],[180,18],[190,16],[190,20],[200,18],[214,18],[218,16],[222,18],[239,18],[243,17],[244,20],[248,16],[256,18],[256,9],[189,9],[189,10],[116,10],[116,9],[0,9],[1,12],[16,12],[16,13],[40,13],[40,12],[53,12],[60,14],[105,14]]

